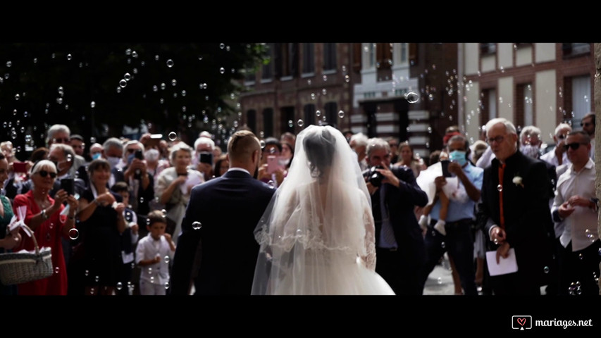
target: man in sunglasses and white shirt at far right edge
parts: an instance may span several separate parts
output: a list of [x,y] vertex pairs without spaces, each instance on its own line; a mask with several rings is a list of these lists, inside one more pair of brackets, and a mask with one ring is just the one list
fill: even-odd
[[[595,196],[595,163],[588,156],[590,137],[570,132],[564,145],[571,164],[559,176],[552,208],[553,220],[564,222],[559,237],[559,294],[599,294],[601,241],[597,233],[599,200]],[[578,284],[576,284],[578,283]]]

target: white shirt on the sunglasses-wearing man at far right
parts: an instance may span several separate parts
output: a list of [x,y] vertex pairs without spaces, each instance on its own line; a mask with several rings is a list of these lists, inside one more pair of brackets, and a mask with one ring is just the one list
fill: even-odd
[[[571,196],[579,195],[585,199],[595,197],[595,163],[588,158],[586,165],[578,172],[570,163],[568,170],[557,179],[552,212],[559,209]],[[559,242],[566,247],[572,242],[572,251],[585,249],[599,238],[597,233],[597,212],[592,208],[576,206],[571,215],[564,218],[564,232]]]

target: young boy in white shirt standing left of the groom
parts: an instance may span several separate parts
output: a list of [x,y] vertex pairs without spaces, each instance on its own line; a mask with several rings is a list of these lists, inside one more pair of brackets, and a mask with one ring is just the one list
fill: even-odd
[[161,211],[148,213],[146,237],[136,248],[136,263],[140,266],[140,294],[165,295],[169,288],[169,262],[175,254],[171,234],[165,232],[167,222]]

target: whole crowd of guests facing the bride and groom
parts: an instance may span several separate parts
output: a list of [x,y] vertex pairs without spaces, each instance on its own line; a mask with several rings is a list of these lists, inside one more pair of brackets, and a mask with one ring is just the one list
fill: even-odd
[[[550,151],[535,126],[493,119],[473,144],[450,127],[427,161],[407,141],[345,131],[361,170],[376,167],[386,179],[365,175],[376,272],[396,294],[422,294],[447,253],[455,294],[598,294],[595,115],[581,127],[557,125]],[[0,285],[1,294],[168,294],[192,188],[230,168],[208,132],[191,145],[151,134],[87,145],[52,125],[29,158],[10,141],[0,149],[0,250],[34,249],[25,230],[7,230],[24,206],[23,222],[55,268],[49,278]],[[278,189],[294,153],[290,132],[261,140],[251,175]],[[526,239],[540,241],[536,252]],[[519,269],[498,273],[504,259]]]

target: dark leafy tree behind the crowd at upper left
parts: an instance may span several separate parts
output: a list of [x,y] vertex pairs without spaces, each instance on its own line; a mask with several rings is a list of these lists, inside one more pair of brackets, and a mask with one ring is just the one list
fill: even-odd
[[263,44],[239,43],[0,44],[0,138],[42,146],[54,123],[96,139],[140,123],[209,129],[236,111],[244,70],[264,55]]

